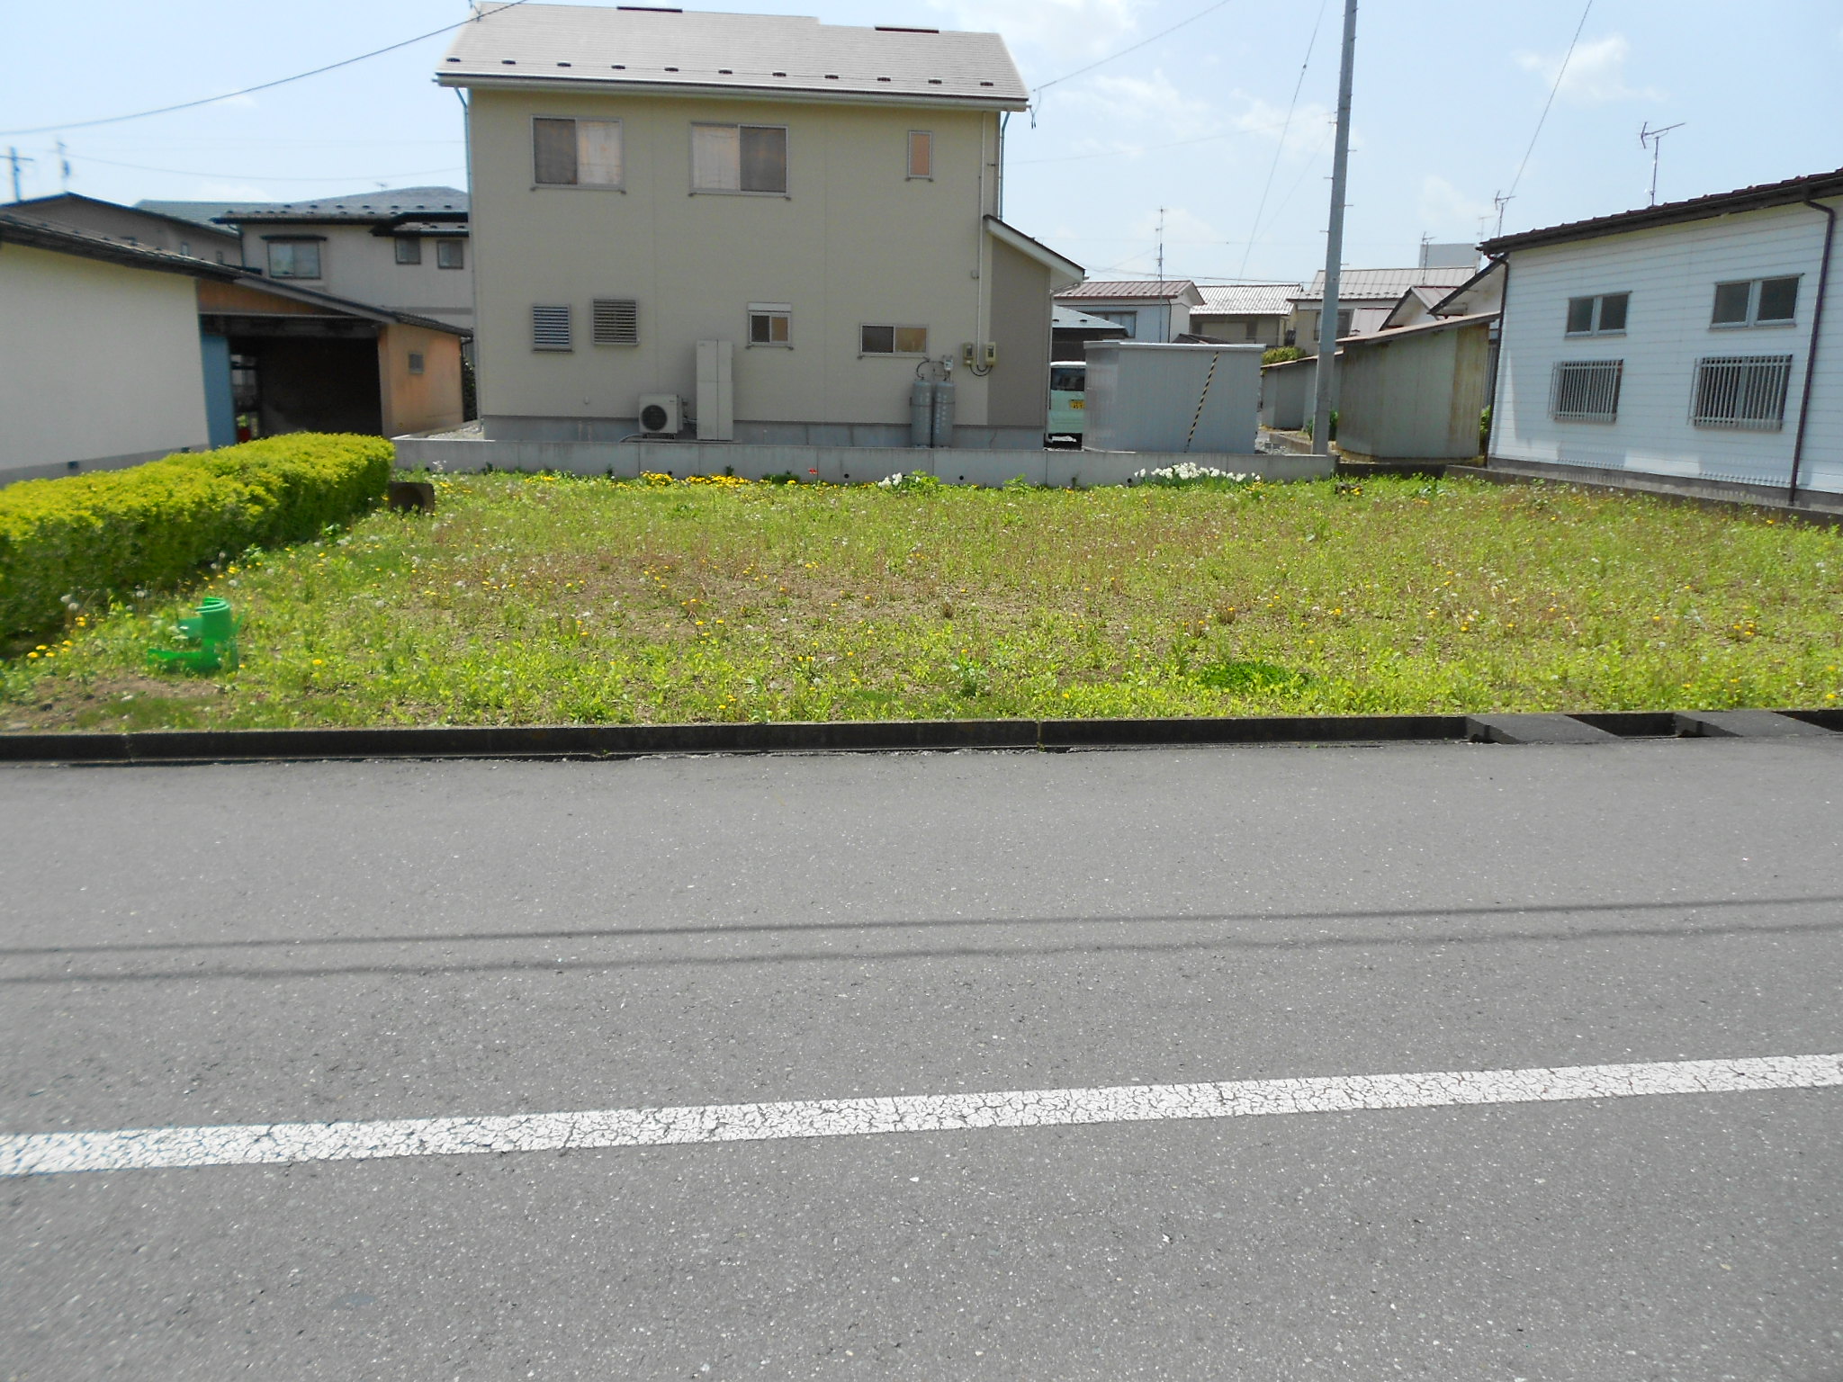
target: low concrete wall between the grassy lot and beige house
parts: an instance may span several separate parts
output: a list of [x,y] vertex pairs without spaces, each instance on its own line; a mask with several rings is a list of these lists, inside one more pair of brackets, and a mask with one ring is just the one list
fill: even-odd
[[892,446],[746,446],[735,442],[505,442],[479,437],[398,437],[396,464],[405,470],[470,474],[487,470],[557,470],[569,475],[796,475],[828,485],[864,485],[898,474],[925,472],[949,485],[1004,485],[1019,475],[1030,485],[1126,485],[1135,470],[1161,470],[1191,461],[1215,470],[1272,481],[1321,479],[1321,455],[1222,455],[1174,451],[992,451],[973,448]]

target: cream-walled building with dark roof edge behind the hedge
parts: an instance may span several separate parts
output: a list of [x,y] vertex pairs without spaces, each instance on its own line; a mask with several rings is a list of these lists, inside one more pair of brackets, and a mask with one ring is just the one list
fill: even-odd
[[194,282],[212,271],[234,273],[0,210],[0,483],[210,446]]

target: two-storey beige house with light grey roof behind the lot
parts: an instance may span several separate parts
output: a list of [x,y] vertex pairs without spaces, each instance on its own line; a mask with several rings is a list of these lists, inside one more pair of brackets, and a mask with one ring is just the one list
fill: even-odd
[[951,370],[955,444],[1043,444],[1082,271],[999,219],[1028,90],[997,35],[527,4],[437,76],[470,92],[488,439],[905,446]]

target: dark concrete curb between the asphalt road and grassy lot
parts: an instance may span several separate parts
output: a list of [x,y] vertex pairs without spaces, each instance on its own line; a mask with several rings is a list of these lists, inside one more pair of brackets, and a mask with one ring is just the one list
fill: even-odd
[[[1778,711],[1843,730],[1843,709]],[[1509,722],[1517,717],[1491,717]],[[1532,717],[1533,719],[1533,717]],[[1550,715],[1544,720],[1565,717]],[[1616,739],[1694,737],[1699,717],[1602,711],[1574,717]],[[1156,720],[837,720],[774,724],[533,724],[378,730],[146,730],[6,733],[0,763],[264,763],[313,759],[621,759],[654,754],[892,754],[1187,744],[1484,741],[1465,715],[1261,715]],[[1502,743],[1502,739],[1500,739]]]

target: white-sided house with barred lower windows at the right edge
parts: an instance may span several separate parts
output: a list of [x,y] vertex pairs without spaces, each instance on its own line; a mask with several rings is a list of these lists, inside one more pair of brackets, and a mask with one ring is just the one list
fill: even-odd
[[1843,492],[1839,205],[1843,170],[1487,241],[1491,455]]

